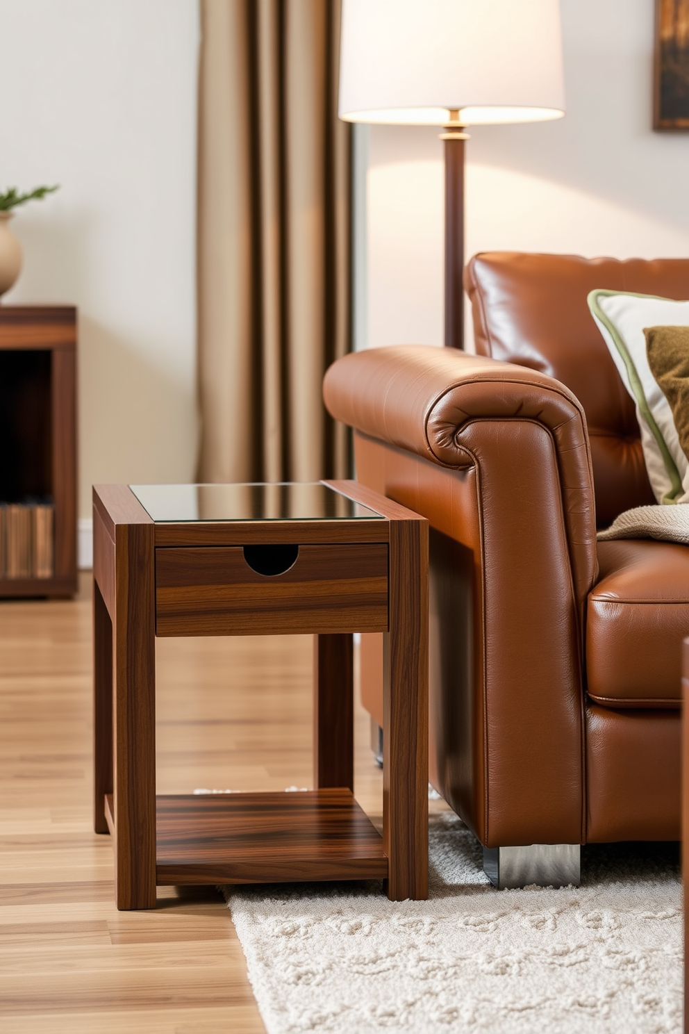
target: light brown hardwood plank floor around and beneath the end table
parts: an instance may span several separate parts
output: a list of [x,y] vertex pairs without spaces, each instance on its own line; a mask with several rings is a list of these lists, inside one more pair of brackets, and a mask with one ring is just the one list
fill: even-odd
[[[311,786],[311,637],[158,640],[160,793]],[[91,594],[0,604],[0,1030],[263,1031],[212,888],[158,888],[118,912],[91,815]],[[356,708],[355,794],[382,778]]]

